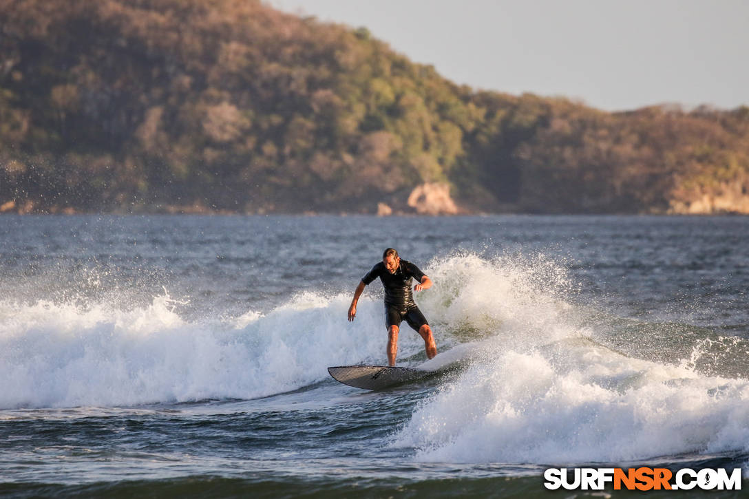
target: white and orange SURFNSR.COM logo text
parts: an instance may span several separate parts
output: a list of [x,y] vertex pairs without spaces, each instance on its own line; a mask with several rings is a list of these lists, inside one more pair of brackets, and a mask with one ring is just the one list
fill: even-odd
[[667,468],[548,468],[544,486],[549,490],[741,490],[742,468],[729,474],[725,468],[682,468],[673,473]]

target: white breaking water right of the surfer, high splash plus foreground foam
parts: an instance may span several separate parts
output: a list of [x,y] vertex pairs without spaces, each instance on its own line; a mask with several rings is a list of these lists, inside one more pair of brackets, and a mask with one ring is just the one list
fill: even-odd
[[[548,465],[749,453],[749,381],[721,375],[745,359],[745,339],[692,328],[683,344],[664,338],[667,360],[630,357],[605,345],[610,321],[568,300],[574,286],[554,264],[456,257],[440,271],[452,266],[479,272],[467,272],[473,290],[441,298],[442,317],[491,334],[455,381],[420,403],[394,447],[422,462]],[[698,369],[703,360],[710,369]]]

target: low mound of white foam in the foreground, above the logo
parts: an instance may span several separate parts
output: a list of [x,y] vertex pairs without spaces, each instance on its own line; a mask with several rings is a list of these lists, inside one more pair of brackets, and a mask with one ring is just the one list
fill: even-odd
[[395,445],[427,462],[538,464],[747,451],[748,402],[748,381],[592,343],[489,348],[413,414]]

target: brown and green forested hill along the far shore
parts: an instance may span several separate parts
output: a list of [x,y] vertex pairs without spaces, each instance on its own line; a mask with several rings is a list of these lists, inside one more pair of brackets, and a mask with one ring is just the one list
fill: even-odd
[[749,213],[748,188],[746,106],[474,91],[258,1],[0,0],[0,211]]

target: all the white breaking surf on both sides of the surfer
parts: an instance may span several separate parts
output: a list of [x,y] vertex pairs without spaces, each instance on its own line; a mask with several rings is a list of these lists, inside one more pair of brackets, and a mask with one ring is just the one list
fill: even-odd
[[[545,255],[455,253],[424,270],[435,285],[416,300],[443,352],[435,360],[460,357],[464,370],[392,438],[416,459],[610,462],[749,449],[747,381],[696,367],[715,345],[746,342],[690,339],[684,355],[670,337],[670,362],[619,354],[587,315],[595,304],[575,303],[577,285]],[[134,307],[2,300],[0,408],[254,399],[326,380],[327,366],[384,363],[379,286],[354,323],[350,300],[304,292],[269,312],[225,317],[195,313],[166,291]],[[423,360],[420,337],[401,333],[399,364]]]

